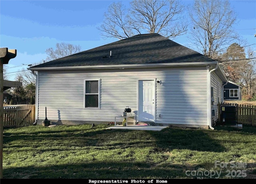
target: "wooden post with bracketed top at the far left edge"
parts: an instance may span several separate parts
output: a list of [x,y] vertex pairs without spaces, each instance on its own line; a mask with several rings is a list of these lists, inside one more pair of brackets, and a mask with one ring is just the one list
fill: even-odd
[[16,57],[17,50],[0,48],[0,179],[3,178],[3,134],[4,134],[4,64]]

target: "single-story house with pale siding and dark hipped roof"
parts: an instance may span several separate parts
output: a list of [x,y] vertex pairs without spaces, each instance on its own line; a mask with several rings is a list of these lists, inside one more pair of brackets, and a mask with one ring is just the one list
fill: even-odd
[[[36,122],[109,123],[127,106],[136,122],[212,127],[227,79],[217,61],[159,34],[141,34],[28,68]],[[47,107],[47,110],[46,110]]]

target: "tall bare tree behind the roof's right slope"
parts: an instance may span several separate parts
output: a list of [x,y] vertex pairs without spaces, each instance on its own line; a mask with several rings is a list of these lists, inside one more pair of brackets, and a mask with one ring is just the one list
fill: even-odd
[[223,47],[238,39],[232,28],[237,15],[228,0],[196,0],[189,9],[192,42],[204,55],[216,59]]

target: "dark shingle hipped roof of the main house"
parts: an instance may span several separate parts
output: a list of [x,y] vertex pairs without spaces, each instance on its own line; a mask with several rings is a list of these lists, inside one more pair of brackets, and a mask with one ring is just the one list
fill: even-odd
[[[110,56],[112,51],[112,57]],[[129,65],[214,61],[159,34],[140,34],[34,67]],[[33,67],[31,67],[33,68]]]

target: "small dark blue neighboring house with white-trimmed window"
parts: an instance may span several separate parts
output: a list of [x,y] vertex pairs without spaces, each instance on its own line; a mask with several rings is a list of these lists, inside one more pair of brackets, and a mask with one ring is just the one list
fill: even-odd
[[236,83],[228,81],[223,89],[224,100],[242,100],[242,87]]

